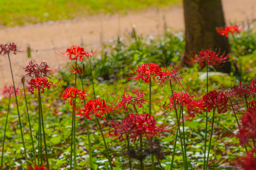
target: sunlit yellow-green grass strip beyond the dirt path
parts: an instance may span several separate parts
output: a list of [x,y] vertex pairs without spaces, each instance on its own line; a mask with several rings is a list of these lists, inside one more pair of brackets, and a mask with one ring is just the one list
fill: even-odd
[[94,14],[125,14],[146,7],[171,6],[180,0],[0,0],[0,25],[16,26]]

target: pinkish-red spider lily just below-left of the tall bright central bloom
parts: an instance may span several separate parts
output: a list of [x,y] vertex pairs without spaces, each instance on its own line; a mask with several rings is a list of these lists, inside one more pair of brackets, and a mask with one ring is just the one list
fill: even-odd
[[146,102],[148,102],[148,99],[143,99],[146,93],[134,89],[132,90],[134,95],[129,95],[129,93],[125,93],[125,91],[126,89],[124,90],[121,99],[113,97],[113,100],[111,101],[111,103],[115,103],[112,104],[112,106],[116,109],[119,109],[119,111],[121,111],[122,109],[128,111],[129,107],[133,105],[136,105],[138,108],[141,108],[143,107],[143,104],[146,104]]

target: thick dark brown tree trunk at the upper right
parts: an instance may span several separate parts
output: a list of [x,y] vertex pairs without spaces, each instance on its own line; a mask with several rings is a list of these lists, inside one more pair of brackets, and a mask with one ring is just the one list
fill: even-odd
[[[225,27],[221,0],[183,0],[186,28],[185,53],[199,53],[202,49],[212,49],[222,53],[230,53],[230,45],[226,36],[216,32],[216,27]],[[230,62],[217,71],[230,73]]]

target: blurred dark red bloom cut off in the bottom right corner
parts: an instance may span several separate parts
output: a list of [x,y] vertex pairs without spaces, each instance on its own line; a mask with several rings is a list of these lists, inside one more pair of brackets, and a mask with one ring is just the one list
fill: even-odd
[[255,170],[256,167],[256,150],[251,150],[247,153],[247,156],[240,156],[237,158],[236,166],[237,169],[242,170]]

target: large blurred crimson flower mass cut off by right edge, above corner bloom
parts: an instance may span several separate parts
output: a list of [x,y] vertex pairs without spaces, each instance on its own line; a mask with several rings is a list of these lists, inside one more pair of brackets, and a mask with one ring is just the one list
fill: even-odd
[[239,138],[241,145],[248,144],[250,139],[256,139],[256,100],[249,103],[236,136]]

